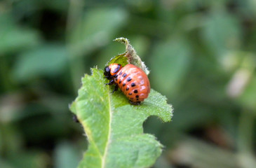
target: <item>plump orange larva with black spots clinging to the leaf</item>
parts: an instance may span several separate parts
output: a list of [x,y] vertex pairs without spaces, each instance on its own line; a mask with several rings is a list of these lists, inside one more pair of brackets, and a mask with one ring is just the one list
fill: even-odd
[[140,104],[149,96],[149,78],[142,69],[133,64],[127,64],[123,68],[120,64],[110,64],[108,68],[109,76],[112,78],[108,78],[107,73],[105,76],[108,79],[113,79],[108,84],[116,84],[131,103]]

